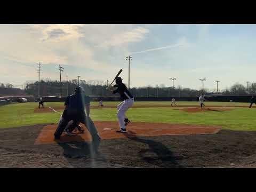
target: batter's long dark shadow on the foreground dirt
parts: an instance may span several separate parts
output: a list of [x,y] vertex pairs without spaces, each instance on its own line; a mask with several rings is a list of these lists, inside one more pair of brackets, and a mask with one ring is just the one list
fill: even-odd
[[130,140],[145,143],[149,146],[150,149],[141,149],[139,152],[139,155],[143,161],[161,167],[182,167],[176,161],[172,151],[163,145],[163,143],[138,138],[136,133],[132,131],[128,131],[127,133],[124,133],[124,135]]

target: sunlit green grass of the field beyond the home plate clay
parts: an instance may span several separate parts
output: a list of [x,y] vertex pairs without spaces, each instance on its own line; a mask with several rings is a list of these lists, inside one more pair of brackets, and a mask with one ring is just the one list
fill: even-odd
[[[104,102],[105,106],[117,105],[119,102]],[[135,102],[134,106],[141,105],[169,105],[171,102]],[[198,105],[198,102],[177,102],[182,105]],[[97,106],[98,102],[91,102]],[[229,102],[205,102],[206,107],[229,106]],[[234,106],[249,106],[249,103],[232,103]],[[45,107],[63,106],[63,102],[47,102]],[[34,113],[38,107],[36,102],[16,103],[0,107],[0,128],[17,127],[24,125],[57,123],[61,113]],[[177,109],[177,108],[176,108]],[[116,109],[91,109],[91,118],[94,121],[117,121]],[[256,131],[256,108],[232,108],[230,111],[205,111],[187,113],[174,108],[131,108],[127,116],[132,122],[183,123],[196,125],[220,125],[223,129]]]

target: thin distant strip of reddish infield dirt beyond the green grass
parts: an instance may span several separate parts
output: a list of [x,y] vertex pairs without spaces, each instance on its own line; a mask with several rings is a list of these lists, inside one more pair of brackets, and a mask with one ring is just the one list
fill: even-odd
[[[198,107],[199,105],[183,105],[183,106],[163,106],[163,105],[148,105],[148,106],[132,106],[131,108],[155,108],[155,107],[164,107],[164,108],[185,108],[185,107]],[[248,108],[248,106],[205,106],[205,108],[222,108],[221,110],[225,109],[225,108],[232,108],[232,107],[239,107],[239,108]],[[99,107],[99,106],[91,106],[91,109],[109,109],[109,108],[116,108],[116,106],[104,106],[104,107]],[[256,108],[255,106],[253,106],[252,108]],[[64,110],[64,106],[62,107],[45,107],[45,108],[35,108],[34,112],[35,113],[51,113],[51,112],[55,112],[54,110],[60,112]]]

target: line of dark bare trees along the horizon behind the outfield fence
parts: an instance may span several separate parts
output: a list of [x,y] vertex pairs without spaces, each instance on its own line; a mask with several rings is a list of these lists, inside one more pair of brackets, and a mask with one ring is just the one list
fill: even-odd
[[[66,95],[73,94],[75,87],[78,85],[77,79],[72,79],[68,82],[41,80],[40,81],[40,95],[41,96],[57,96],[66,97]],[[103,81],[79,81],[79,86],[82,86],[87,95],[91,97],[113,97],[110,91],[106,90],[107,83]],[[38,82],[26,82],[25,92],[29,95],[38,95]],[[206,94],[222,94],[222,95],[252,95],[256,93],[256,83],[252,83],[249,87],[236,83],[231,87],[226,87],[219,91],[204,89],[194,90],[189,88],[166,87],[164,84],[157,86],[133,87],[130,92],[134,97],[198,97],[202,92]],[[118,97],[118,95],[116,95]]]

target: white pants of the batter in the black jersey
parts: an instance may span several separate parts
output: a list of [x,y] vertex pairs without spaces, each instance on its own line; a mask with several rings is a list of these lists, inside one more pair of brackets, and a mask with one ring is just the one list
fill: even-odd
[[117,118],[118,118],[118,122],[119,122],[119,128],[120,129],[125,129],[125,122],[124,119],[127,118],[125,113],[126,111],[132,107],[134,103],[134,99],[126,99],[123,102],[119,103],[117,108]]

